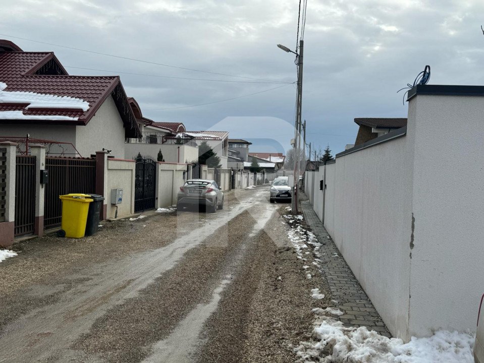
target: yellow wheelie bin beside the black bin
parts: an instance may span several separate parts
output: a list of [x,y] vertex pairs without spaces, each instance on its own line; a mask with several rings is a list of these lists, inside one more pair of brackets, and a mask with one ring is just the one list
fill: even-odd
[[58,235],[82,238],[86,232],[87,212],[93,200],[88,194],[66,194],[62,200],[62,226]]

